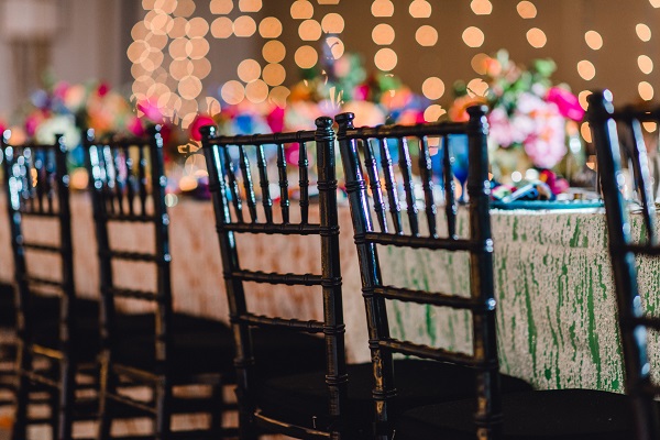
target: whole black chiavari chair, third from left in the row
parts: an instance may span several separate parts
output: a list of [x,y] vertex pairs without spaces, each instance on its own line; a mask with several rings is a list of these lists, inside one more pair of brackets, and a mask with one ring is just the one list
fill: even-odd
[[[241,438],[255,438],[262,432],[279,432],[297,438],[340,438],[345,432],[346,371],[344,360],[344,323],[339,266],[339,226],[337,218],[337,180],[334,175],[334,132],[332,120],[319,118],[317,130],[268,135],[218,136],[216,128],[206,127],[204,153],[209,170],[216,224],[222,255],[222,271],[230,305],[230,319],[237,343],[238,400]],[[318,182],[310,184],[308,148],[316,142]],[[299,216],[289,199],[289,173],[285,145],[299,144]],[[279,202],[274,206],[264,150],[277,150],[276,184]],[[238,158],[238,169],[234,158]],[[254,164],[256,162],[256,164]],[[261,204],[255,194],[252,167],[255,166],[261,188]],[[271,176],[271,178],[273,178]],[[295,185],[295,184],[294,184]],[[294,186],[292,185],[292,187]],[[311,189],[318,189],[320,220],[310,215]],[[279,218],[282,220],[279,220]],[[299,219],[299,221],[298,221]],[[283,234],[318,237],[321,242],[321,274],[266,273],[244,270],[239,263],[241,234]],[[277,252],[273,249],[273,252]],[[283,255],[283,260],[286,256]],[[263,267],[263,264],[262,266]],[[292,266],[292,272],[296,267]],[[253,312],[246,300],[250,285],[267,283],[287,286],[316,286],[322,290],[323,319],[302,320],[267,317]],[[282,294],[278,294],[282,295]],[[309,334],[306,334],[309,333]],[[280,350],[260,353],[260,340],[268,334],[283,341],[302,338],[312,345],[297,363],[322,371],[293,374],[282,367],[287,356]],[[311,334],[322,336],[315,338]],[[306,386],[304,377],[312,376],[319,386],[319,405],[302,399],[293,405],[296,387]]]

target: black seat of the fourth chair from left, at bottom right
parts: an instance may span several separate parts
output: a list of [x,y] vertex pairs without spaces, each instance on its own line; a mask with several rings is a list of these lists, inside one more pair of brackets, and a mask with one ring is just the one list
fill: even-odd
[[[503,396],[504,439],[628,440],[635,438],[630,399],[592,389]],[[395,422],[396,439],[473,440],[475,399],[411,409]]]

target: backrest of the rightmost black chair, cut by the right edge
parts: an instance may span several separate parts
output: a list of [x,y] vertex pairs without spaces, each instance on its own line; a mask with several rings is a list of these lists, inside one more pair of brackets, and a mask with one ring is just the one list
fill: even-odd
[[[651,382],[651,364],[647,354],[648,329],[660,330],[660,318],[645,314],[637,285],[636,255],[660,255],[656,231],[656,202],[649,172],[649,160],[642,123],[660,123],[660,108],[615,111],[609,91],[588,97],[586,113],[596,147],[598,175],[605,202],[609,256],[618,305],[618,321],[625,361],[626,393],[635,403],[639,439],[660,436],[653,397],[660,388]],[[618,129],[617,129],[618,124]],[[628,205],[622,189],[625,184],[622,153],[632,163],[632,175],[641,206],[641,240],[632,239]]]

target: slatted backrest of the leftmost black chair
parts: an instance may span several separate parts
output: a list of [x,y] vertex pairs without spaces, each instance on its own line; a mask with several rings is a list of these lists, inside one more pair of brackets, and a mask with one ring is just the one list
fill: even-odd
[[[11,245],[16,284],[18,337],[32,342],[36,322],[34,294],[47,289],[59,297],[59,309],[42,310],[59,319],[59,349],[69,348],[75,319],[75,285],[72,223],[69,209],[69,175],[66,165],[67,147],[62,135],[51,145],[21,144],[9,141],[10,132],[2,135],[2,167],[4,190],[11,230]],[[24,228],[24,218],[51,219],[57,222],[58,242],[34,241],[35,227]],[[41,226],[43,228],[43,224]],[[46,227],[47,228],[47,227]],[[25,229],[29,229],[25,231]],[[28,233],[25,233],[28,232]],[[32,237],[32,239],[31,239]],[[28,267],[26,253],[38,252],[59,256],[59,279],[37,276]]]

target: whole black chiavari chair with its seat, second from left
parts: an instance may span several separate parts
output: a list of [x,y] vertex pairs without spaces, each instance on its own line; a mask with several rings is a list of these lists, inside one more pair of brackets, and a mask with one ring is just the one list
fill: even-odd
[[[153,432],[144,438],[210,439],[231,433],[222,426],[227,408],[222,391],[233,382],[232,374],[224,374],[232,372],[231,332],[219,321],[173,310],[160,127],[140,139],[101,141],[89,131],[85,148],[100,264],[99,438],[116,438],[111,431],[117,419],[143,417],[153,421]],[[112,234],[141,226],[151,229],[154,250],[113,244]],[[155,266],[156,286],[150,290],[122,284],[122,263]],[[127,299],[151,309],[132,312]],[[186,393],[190,386],[210,387],[210,393]],[[206,415],[210,422],[204,428],[173,430],[172,416],[178,414]]]

